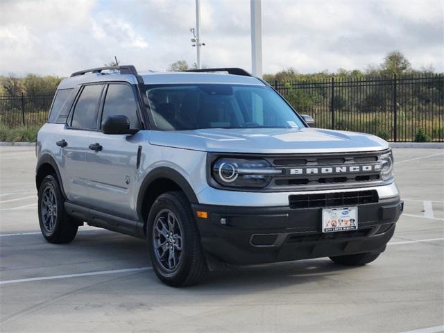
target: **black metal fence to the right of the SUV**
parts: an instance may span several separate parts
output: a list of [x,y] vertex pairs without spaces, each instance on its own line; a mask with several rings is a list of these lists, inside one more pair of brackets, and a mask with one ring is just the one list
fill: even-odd
[[394,142],[444,142],[442,74],[271,84],[298,112],[314,117],[316,127]]

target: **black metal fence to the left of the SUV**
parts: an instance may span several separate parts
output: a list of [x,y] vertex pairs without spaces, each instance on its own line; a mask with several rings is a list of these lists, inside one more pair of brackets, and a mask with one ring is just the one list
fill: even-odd
[[42,126],[48,119],[54,94],[0,95],[0,124],[10,128]]

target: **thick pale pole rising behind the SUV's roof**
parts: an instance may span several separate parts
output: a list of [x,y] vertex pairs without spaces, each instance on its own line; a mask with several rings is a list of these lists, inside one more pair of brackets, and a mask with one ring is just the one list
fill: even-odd
[[251,15],[251,69],[262,78],[262,19],[261,0],[250,0]]

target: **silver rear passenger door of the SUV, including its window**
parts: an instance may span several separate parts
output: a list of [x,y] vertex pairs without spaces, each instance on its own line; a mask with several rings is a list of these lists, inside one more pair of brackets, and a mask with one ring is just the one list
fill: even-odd
[[79,205],[89,205],[88,173],[86,152],[89,135],[97,130],[97,115],[103,84],[85,85],[80,89],[63,131],[65,141],[62,148],[63,185],[68,200]]

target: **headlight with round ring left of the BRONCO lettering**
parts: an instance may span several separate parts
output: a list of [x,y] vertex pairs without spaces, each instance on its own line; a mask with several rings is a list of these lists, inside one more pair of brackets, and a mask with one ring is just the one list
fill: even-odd
[[219,158],[212,166],[216,182],[230,187],[266,187],[273,176],[282,173],[266,160]]

